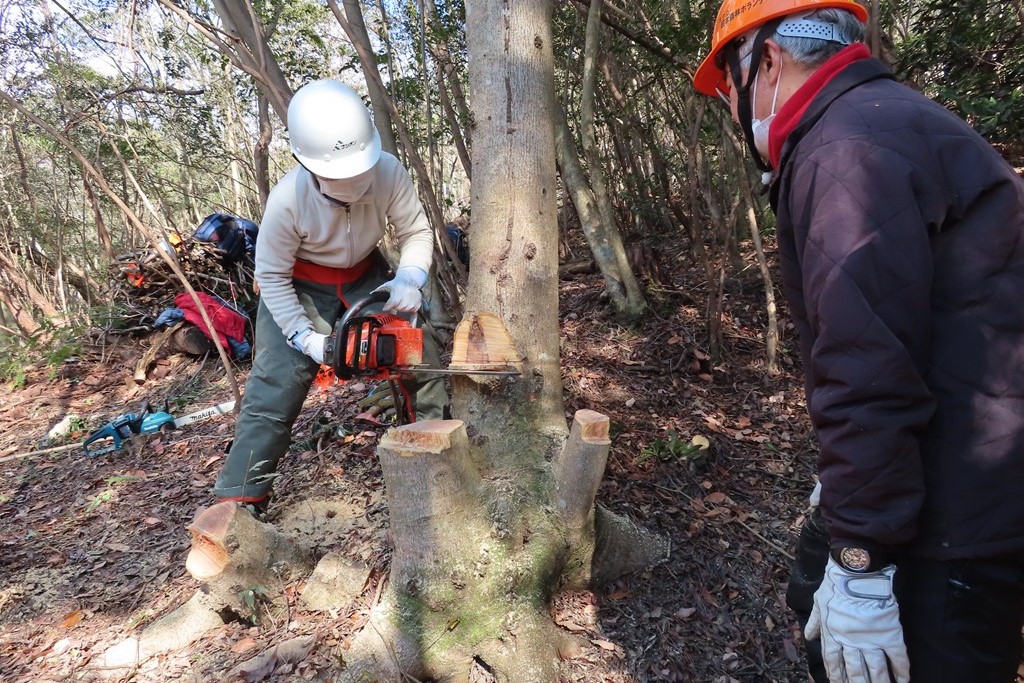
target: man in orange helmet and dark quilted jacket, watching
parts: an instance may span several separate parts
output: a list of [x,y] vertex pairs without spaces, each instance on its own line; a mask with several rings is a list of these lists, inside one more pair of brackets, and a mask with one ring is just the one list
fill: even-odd
[[[1007,683],[1024,616],[1024,180],[852,0],[725,0],[694,74],[764,171],[818,436],[818,683]],[[818,501],[820,505],[817,505]]]

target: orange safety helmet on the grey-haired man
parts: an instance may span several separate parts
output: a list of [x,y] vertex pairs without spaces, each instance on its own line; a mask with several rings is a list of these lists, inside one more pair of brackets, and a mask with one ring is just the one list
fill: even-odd
[[693,86],[706,95],[728,92],[725,72],[719,67],[717,57],[730,41],[773,18],[825,7],[848,9],[861,22],[867,20],[867,10],[854,0],[725,0],[715,18],[711,53],[693,75]]

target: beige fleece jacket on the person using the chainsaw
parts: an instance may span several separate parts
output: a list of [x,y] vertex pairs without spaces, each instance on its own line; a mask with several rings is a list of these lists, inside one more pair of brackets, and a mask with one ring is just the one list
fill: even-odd
[[409,171],[386,152],[374,167],[366,195],[348,208],[325,198],[302,166],[274,185],[259,226],[256,282],[287,339],[313,327],[292,286],[295,259],[351,267],[370,255],[388,223],[394,226],[401,252],[398,267],[430,272],[433,232]]

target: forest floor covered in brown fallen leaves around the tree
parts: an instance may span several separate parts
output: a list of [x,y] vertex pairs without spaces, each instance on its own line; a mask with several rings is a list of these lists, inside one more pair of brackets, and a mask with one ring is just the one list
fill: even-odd
[[[561,283],[566,419],[586,408],[612,420],[599,502],[672,542],[658,566],[600,592],[556,597],[555,622],[590,643],[563,664],[562,681],[805,681],[803,641],[784,601],[815,459],[795,334],[783,311],[782,372],[769,375],[764,286],[752,259],[727,281],[724,348],[713,358],[707,283],[681,249],[663,246],[657,256],[652,312],[637,329],[609,321],[598,276]],[[378,594],[390,552],[374,452],[384,428],[352,420],[364,384],[310,393],[267,515],[299,532],[288,526],[296,509],[310,501],[344,506],[348,512],[318,530],[315,545],[375,568],[361,597],[311,612],[296,599],[301,585],[289,586],[287,618],[227,623],[131,670],[99,666],[106,648],[196,592],[184,569],[185,526],[214,502],[233,418],[96,458],[79,450],[18,456],[38,449],[70,414],[78,416],[77,440],[143,399],[170,400],[184,415],[230,398],[215,356],[163,359],[143,385],[134,383],[148,341],[86,345],[56,372],[40,361],[0,400],[0,681],[244,680],[231,673],[237,666],[299,636],[312,643],[301,663],[245,680],[330,680]],[[236,368],[240,385],[248,370]],[[694,436],[710,449],[690,453]]]

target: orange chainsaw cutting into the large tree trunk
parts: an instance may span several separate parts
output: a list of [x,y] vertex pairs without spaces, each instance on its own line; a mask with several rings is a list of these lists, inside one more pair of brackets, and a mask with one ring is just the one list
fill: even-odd
[[[413,375],[519,375],[518,370],[452,370],[423,364],[423,328],[420,316],[394,313],[361,314],[367,306],[388,300],[387,291],[371,293],[353,302],[334,326],[324,345],[324,360],[342,380],[386,380],[398,404],[398,382]],[[403,401],[408,403],[409,401]],[[412,421],[408,404],[397,412]]]

